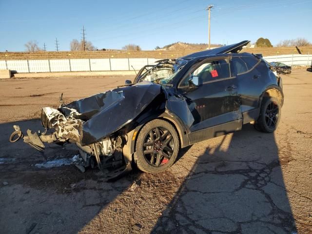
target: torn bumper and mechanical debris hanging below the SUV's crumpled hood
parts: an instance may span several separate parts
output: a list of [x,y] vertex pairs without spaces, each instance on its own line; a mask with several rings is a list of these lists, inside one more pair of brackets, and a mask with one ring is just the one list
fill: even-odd
[[[72,164],[74,164],[81,172],[85,172],[88,167],[96,168],[103,172],[107,181],[115,181],[120,177],[128,174],[132,170],[131,161],[123,158],[122,155],[122,139],[117,137],[116,150],[113,154],[105,156],[102,154],[103,148],[100,148],[103,142],[97,142],[91,145],[81,146],[80,131],[83,121],[72,117],[65,117],[59,110],[45,107],[41,112],[41,124],[45,131],[40,133],[32,132],[30,129],[26,131],[26,135],[21,131],[20,126],[14,125],[14,132],[11,134],[10,142],[17,142],[23,139],[25,143],[40,151],[44,156],[44,143],[56,143],[63,145],[65,143],[76,143],[79,155],[74,156]],[[47,134],[48,130],[52,130]]]

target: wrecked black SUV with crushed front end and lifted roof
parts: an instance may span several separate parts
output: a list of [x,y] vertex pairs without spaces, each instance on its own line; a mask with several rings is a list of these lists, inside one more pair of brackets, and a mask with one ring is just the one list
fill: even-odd
[[[14,126],[11,141],[39,151],[74,143],[84,171],[98,166],[117,178],[134,165],[148,173],[169,168],[179,148],[238,131],[245,123],[272,133],[283,105],[282,81],[264,59],[238,53],[249,41],[164,59],[133,82],[41,113],[43,133]],[[106,170],[109,169],[109,170]]]

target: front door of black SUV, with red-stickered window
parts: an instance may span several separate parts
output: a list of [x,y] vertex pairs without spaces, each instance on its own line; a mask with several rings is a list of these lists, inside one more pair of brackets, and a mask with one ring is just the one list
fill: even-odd
[[241,129],[237,79],[231,76],[230,58],[196,63],[178,86],[194,117],[189,134],[191,144]]

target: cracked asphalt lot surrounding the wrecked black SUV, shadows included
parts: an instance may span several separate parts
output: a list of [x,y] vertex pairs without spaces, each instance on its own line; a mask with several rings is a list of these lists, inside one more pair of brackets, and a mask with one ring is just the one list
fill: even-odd
[[[164,173],[135,170],[113,183],[95,169],[36,168],[43,156],[8,137],[13,124],[40,129],[40,107],[57,106],[60,92],[70,101],[129,77],[0,80],[0,232],[312,233],[312,73],[282,78],[285,102],[274,134],[246,124],[182,149]],[[51,145],[44,156],[77,153]]]

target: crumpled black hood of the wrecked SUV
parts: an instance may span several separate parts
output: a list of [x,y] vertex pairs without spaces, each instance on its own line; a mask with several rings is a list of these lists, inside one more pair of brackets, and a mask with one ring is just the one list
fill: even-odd
[[160,92],[160,85],[143,81],[73,101],[59,111],[65,117],[83,121],[79,129],[80,143],[90,145],[131,122]]

